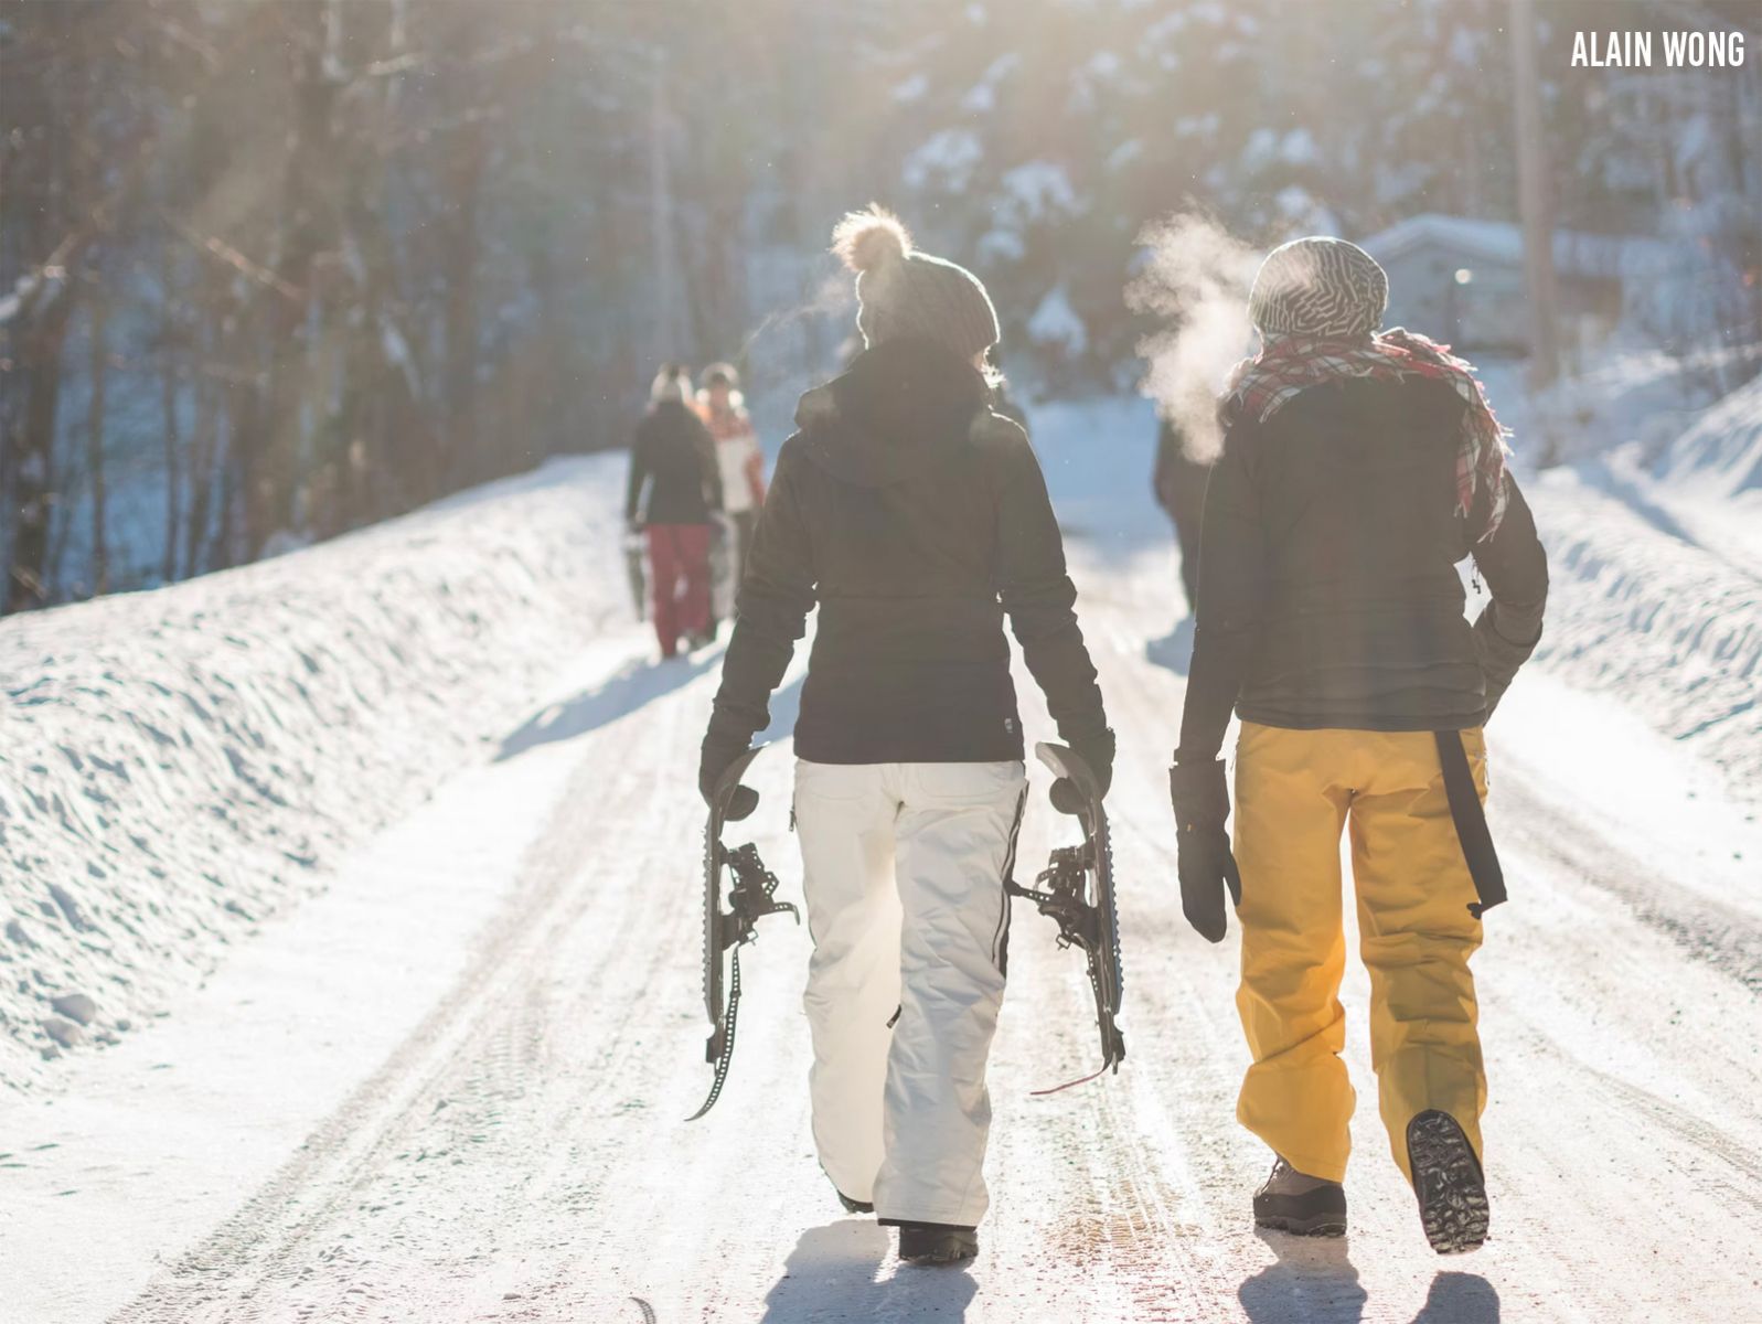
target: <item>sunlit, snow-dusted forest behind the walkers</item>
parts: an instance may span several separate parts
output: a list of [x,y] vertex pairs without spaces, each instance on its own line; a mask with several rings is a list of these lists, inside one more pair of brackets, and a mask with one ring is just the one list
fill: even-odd
[[[1684,95],[1566,67],[1607,5],[1540,12],[1559,222],[1683,242],[1739,291],[1697,333],[1762,340],[1757,56]],[[1031,379],[1129,386],[1122,287],[1159,215],[1253,243],[1512,219],[1507,16],[11,0],[0,606],[240,564],[622,444],[663,356],[802,383],[849,333],[825,236],[870,197],[987,279]]]

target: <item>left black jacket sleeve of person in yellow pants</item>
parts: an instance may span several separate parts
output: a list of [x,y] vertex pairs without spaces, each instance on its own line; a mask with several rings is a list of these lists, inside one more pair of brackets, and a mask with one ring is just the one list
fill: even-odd
[[1200,601],[1177,763],[1218,758],[1230,712],[1260,645],[1267,608],[1267,541],[1251,472],[1256,435],[1253,421],[1230,428],[1205,488]]

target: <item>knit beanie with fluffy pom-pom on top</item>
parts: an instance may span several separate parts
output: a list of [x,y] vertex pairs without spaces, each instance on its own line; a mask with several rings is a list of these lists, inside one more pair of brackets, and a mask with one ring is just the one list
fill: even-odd
[[832,250],[856,271],[856,330],[869,346],[916,335],[973,358],[1001,338],[980,279],[913,252],[906,226],[886,208],[846,215],[832,231]]

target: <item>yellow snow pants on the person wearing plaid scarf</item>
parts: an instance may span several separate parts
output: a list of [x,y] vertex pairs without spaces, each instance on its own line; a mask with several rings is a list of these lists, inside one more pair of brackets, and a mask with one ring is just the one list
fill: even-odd
[[[1482,799],[1480,732],[1462,746]],[[1351,830],[1359,950],[1371,973],[1371,1063],[1401,1171],[1408,1121],[1441,1109],[1480,1153],[1487,1077],[1475,1031],[1475,883],[1431,732],[1242,725],[1235,859],[1242,873],[1237,1010],[1253,1053],[1237,1118],[1299,1172],[1346,1174],[1355,1095],[1341,1047],[1346,970],[1339,836]]]

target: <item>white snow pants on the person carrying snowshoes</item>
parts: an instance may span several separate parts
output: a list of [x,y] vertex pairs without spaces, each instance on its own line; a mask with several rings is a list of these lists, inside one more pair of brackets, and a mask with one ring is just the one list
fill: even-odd
[[879,1218],[985,1216],[985,1060],[1025,788],[1018,762],[796,762],[814,1144]]

